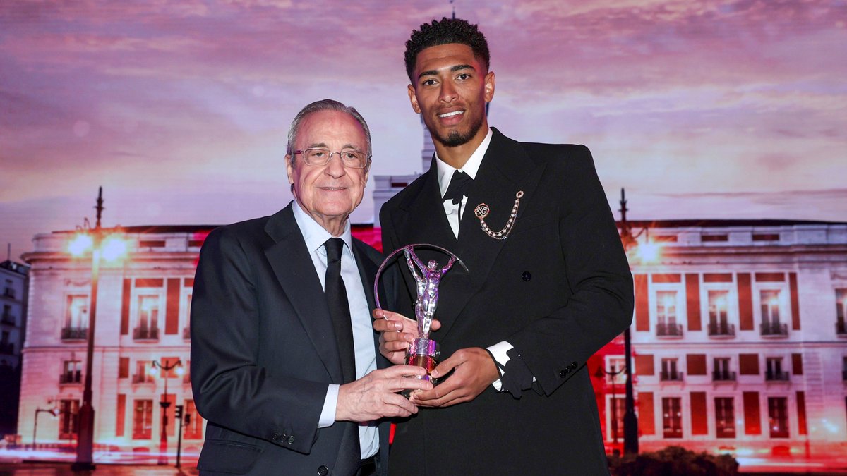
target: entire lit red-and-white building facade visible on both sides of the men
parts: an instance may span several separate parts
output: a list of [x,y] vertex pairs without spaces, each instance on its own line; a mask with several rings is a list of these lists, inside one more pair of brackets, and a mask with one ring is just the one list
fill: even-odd
[[[650,226],[661,257],[630,256],[641,451],[669,445],[744,458],[847,454],[847,224],[678,220]],[[155,454],[164,382],[153,361],[188,369],[188,310],[211,226],[125,229],[130,256],[103,263],[94,357],[96,451]],[[379,229],[354,233],[379,246]],[[90,260],[64,251],[69,232],[36,235],[18,433],[29,444],[75,444],[85,358]],[[623,449],[623,340],[588,363],[610,452]],[[185,406],[186,456],[202,445],[187,372],[169,377]],[[175,451],[169,407],[169,453]],[[613,423],[617,419],[616,425]],[[617,433],[617,445],[615,436]]]

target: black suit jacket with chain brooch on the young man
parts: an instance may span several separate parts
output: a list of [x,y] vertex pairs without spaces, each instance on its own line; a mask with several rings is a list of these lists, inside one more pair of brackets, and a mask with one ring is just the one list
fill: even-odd
[[[518,191],[524,195],[511,235],[506,240],[486,235],[474,208],[487,204],[485,221],[500,230]],[[379,220],[386,254],[411,243],[432,243],[468,265],[469,273],[454,266],[441,281],[435,317],[442,327],[432,338],[442,356],[507,340],[514,346],[507,377],[512,373],[509,381],[523,382],[528,390],[516,398],[488,387],[473,401],[422,409],[398,424],[390,472],[607,473],[585,363],[629,325],[634,297],[588,149],[520,143],[494,130],[458,240],[447,223],[435,160],[427,174],[385,203]],[[405,263],[396,266],[403,279],[394,305],[412,316],[414,282]],[[520,395],[521,388],[510,390]]]

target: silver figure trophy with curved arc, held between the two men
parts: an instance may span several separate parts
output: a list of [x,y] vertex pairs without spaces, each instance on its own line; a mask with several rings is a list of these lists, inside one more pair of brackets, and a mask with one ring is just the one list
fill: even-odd
[[[415,254],[414,249],[416,247],[434,248],[446,253],[450,257],[450,260],[442,268],[438,267],[438,263],[434,259],[424,263]],[[379,292],[377,290],[379,275],[382,273],[383,268],[385,268],[385,263],[389,263],[391,258],[399,252],[403,252],[406,256],[406,263],[409,271],[412,272],[412,276],[415,278],[415,285],[418,291],[418,299],[415,301],[415,318],[418,320],[418,338],[412,340],[412,344],[407,349],[406,363],[408,365],[417,365],[418,367],[426,368],[427,375],[419,378],[432,380],[429,374],[438,365],[439,349],[435,340],[429,339],[429,329],[432,326],[432,319],[435,316],[435,307],[438,306],[438,285],[441,282],[441,278],[447,271],[450,271],[454,263],[458,262],[461,264],[462,268],[465,268],[465,271],[468,271],[468,267],[465,266],[465,263],[462,263],[459,257],[441,246],[420,243],[396,249],[388,257],[385,257],[385,261],[379,266],[376,279],[374,280],[376,307],[380,309],[382,307],[379,305]]]

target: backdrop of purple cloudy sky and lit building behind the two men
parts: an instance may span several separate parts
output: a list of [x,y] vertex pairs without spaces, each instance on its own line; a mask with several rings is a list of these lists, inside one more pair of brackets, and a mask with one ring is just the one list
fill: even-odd
[[[0,459],[72,460],[92,313],[95,459],[196,458],[205,235],[291,201],[288,126],[332,98],[370,126],[352,222],[381,246],[379,205],[432,154],[405,42],[454,12],[490,44],[490,125],[590,147],[622,219],[632,349],[621,336],[589,363],[608,453],[635,414],[641,452],[847,468],[843,0],[0,3],[0,359],[20,382]],[[69,244],[101,186],[103,236],[127,248],[95,277]]]

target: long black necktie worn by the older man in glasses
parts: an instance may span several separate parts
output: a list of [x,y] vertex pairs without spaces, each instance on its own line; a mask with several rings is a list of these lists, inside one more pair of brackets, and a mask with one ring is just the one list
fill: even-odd
[[353,326],[350,322],[350,303],[347,302],[347,290],[341,280],[341,249],[344,241],[329,238],[326,248],[326,278],[324,294],[329,305],[329,315],[335,327],[335,340],[338,341],[338,353],[341,357],[341,374],[344,383],[356,379],[356,353],[353,351]]

